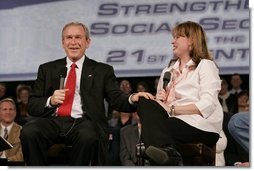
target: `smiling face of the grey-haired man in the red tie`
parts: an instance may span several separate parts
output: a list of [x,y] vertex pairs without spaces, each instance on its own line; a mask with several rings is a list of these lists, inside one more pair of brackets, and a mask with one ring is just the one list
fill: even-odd
[[82,26],[69,26],[63,32],[62,46],[71,61],[79,60],[90,45]]

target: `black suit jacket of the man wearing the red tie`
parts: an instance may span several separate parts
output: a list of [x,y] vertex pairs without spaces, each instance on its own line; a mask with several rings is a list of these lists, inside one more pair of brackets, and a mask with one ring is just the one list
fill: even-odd
[[[45,108],[47,99],[59,89],[60,73],[66,66],[66,57],[40,65],[32,96],[29,99],[29,114],[48,117],[56,107]],[[96,124],[100,138],[98,164],[105,165],[108,136],[104,98],[118,111],[132,112],[134,106],[128,96],[121,92],[113,67],[85,57],[80,81],[80,96],[84,113]]]

